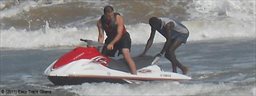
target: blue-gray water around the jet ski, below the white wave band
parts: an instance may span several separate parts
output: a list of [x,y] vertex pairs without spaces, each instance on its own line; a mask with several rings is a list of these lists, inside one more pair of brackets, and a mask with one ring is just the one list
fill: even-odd
[[[196,95],[255,96],[255,39],[212,40],[188,42],[177,50],[177,58],[189,67],[189,81],[144,82],[139,85],[84,83],[54,86],[45,76],[46,67],[69,48],[1,49],[0,89],[44,90],[47,95]],[[160,51],[162,43],[154,44],[148,55]],[[133,45],[136,59],[143,45]],[[171,67],[166,59],[159,62]],[[41,93],[43,94],[43,93]],[[3,94],[2,94],[3,95]],[[35,95],[35,94],[27,94]],[[44,94],[45,95],[45,94]]]

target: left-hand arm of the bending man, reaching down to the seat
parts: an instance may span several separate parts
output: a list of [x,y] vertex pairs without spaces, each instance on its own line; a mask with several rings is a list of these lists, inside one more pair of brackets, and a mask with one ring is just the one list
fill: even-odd
[[153,41],[154,41],[154,37],[155,37],[155,33],[156,33],[156,29],[151,28],[151,34],[150,34],[150,37],[147,41],[145,50],[143,51],[143,53],[140,56],[145,55],[147,53],[148,49],[152,46]]

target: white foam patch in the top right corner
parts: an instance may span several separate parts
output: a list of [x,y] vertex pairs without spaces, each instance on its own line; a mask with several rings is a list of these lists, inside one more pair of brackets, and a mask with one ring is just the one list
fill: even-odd
[[190,17],[198,19],[215,19],[229,16],[237,20],[255,20],[255,0],[193,0],[187,11]]

